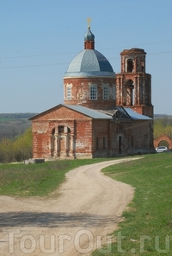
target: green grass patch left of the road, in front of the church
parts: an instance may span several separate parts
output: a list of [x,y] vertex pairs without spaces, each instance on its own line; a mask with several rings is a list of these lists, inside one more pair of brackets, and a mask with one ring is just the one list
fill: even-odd
[[49,195],[64,182],[65,173],[67,171],[81,165],[105,160],[107,159],[61,160],[28,165],[1,164],[0,195]]

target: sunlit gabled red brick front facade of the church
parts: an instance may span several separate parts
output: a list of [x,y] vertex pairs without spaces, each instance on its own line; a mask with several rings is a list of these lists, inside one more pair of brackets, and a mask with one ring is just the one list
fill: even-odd
[[[33,120],[34,158],[51,157],[52,129],[55,128],[55,135],[58,135],[58,125],[63,125],[71,130],[70,136],[75,140],[71,149],[71,157],[75,157],[76,154],[77,158],[82,157],[83,154],[92,157],[92,119],[67,107],[59,106],[52,112],[46,112]],[[60,149],[65,154],[64,147],[65,142],[62,137]]]

